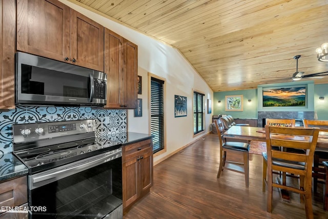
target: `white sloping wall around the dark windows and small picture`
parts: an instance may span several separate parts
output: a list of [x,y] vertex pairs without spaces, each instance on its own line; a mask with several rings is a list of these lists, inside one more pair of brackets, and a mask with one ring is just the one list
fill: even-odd
[[[134,117],[134,111],[128,110],[128,131],[149,133],[148,72],[165,78],[167,152],[159,156],[154,156],[154,162],[172,154],[179,150],[179,148],[188,145],[195,141],[196,138],[202,136],[200,135],[193,138],[193,90],[205,94],[204,99],[206,100],[206,104],[207,99],[211,99],[213,103],[213,91],[179,51],[151,37],[116,23],[104,17],[105,15],[100,16],[67,0],[59,1],[138,45],[138,75],[142,76],[142,94],[138,94],[138,98],[142,98],[142,117]],[[174,117],[175,94],[187,96],[188,111],[186,117]],[[212,123],[213,106],[212,114],[207,114],[207,106],[205,107],[205,111],[205,133],[208,133],[210,131],[210,124]]]

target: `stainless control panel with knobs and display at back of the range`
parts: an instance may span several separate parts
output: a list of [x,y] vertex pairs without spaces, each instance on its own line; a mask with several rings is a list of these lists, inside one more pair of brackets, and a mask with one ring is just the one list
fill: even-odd
[[94,120],[14,124],[13,142],[23,143],[95,131]]

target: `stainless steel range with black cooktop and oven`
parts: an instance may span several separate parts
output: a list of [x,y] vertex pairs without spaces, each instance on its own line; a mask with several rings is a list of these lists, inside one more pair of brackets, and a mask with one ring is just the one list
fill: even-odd
[[30,218],[122,218],[121,144],[95,121],[13,125],[14,154],[29,168]]

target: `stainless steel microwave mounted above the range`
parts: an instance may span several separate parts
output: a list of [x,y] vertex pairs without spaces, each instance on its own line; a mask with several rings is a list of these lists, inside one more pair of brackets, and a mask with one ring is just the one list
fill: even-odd
[[16,105],[106,105],[106,73],[23,52],[15,58]]

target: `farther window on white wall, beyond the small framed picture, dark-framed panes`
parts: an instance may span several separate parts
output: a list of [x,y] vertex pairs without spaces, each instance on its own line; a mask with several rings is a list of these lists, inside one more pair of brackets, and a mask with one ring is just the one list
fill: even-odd
[[194,134],[204,131],[204,96],[194,91]]

